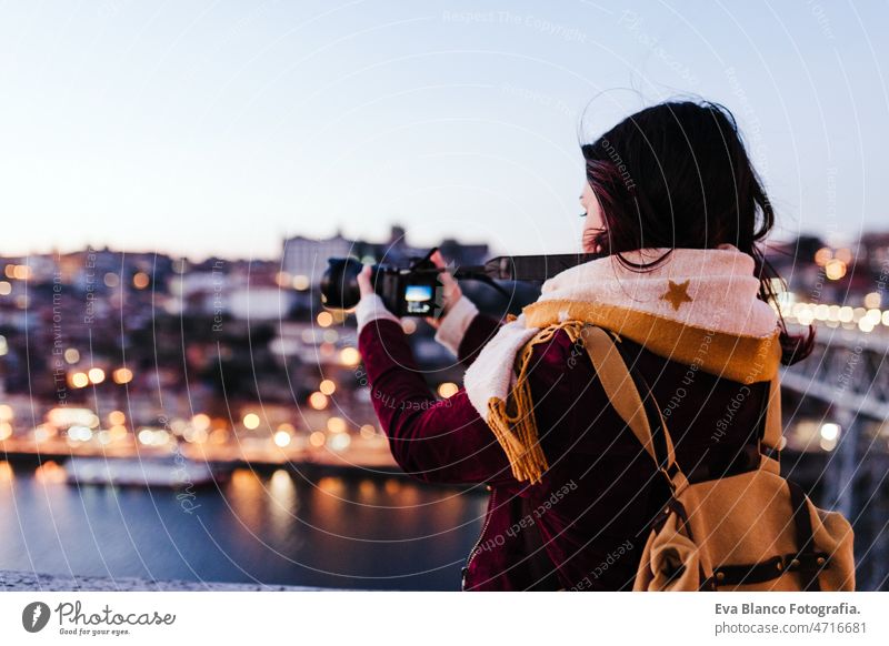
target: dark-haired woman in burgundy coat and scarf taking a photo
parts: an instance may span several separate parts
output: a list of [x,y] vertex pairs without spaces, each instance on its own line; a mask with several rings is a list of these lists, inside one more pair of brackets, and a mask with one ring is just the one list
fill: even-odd
[[603,258],[548,281],[505,324],[446,274],[436,339],[467,367],[447,402],[369,268],[360,276],[359,349],[396,460],[423,481],[490,489],[465,589],[632,587],[667,492],[578,343],[583,324],[621,337],[679,466],[699,478],[750,468],[769,380],[810,351],[811,331],[789,335],[769,304],[775,276],[757,245],[773,213],[728,110],[662,103],[582,153],[582,245]]

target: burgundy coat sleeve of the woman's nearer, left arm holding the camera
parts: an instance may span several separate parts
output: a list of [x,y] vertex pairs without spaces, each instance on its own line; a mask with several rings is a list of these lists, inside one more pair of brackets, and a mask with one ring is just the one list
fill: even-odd
[[[478,334],[472,335],[476,341],[487,334],[481,323],[478,327]],[[463,343],[460,345],[462,354]],[[475,343],[466,345],[477,352]],[[392,456],[404,472],[421,481],[446,484],[516,482],[506,453],[466,391],[461,388],[447,400],[432,396],[397,322],[371,321],[359,333],[358,347],[373,408],[389,437]]]

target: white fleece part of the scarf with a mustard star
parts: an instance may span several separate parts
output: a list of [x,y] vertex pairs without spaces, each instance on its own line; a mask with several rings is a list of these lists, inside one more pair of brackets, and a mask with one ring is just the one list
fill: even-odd
[[[641,250],[622,255],[637,263],[651,262],[663,255],[665,251]],[[615,325],[608,321],[615,321],[616,312],[620,313],[621,321],[638,320],[639,316],[633,313],[642,313],[655,317],[648,316],[647,321],[655,321],[650,330],[657,330],[658,336],[688,326],[741,341],[745,337],[751,341],[772,337],[777,330],[777,316],[769,304],[757,297],[759,280],[753,275],[753,259],[731,245],[712,250],[677,249],[663,264],[645,273],[625,268],[613,256],[568,269],[543,283],[537,303],[525,307],[518,319],[502,325],[481,350],[463,378],[469,400],[490,425],[491,401],[507,401],[516,384],[513,366],[517,355],[541,331],[540,326],[533,325],[535,321],[548,324],[578,319],[589,321],[590,313],[595,319],[597,312],[608,312],[608,315],[602,314],[602,321],[593,322],[603,322],[602,326],[613,330]],[[556,321],[551,320],[552,312],[550,320],[540,315],[541,310],[551,306],[557,307]],[[585,314],[579,315],[581,310]],[[529,319],[533,312],[537,314]],[[663,324],[660,325],[659,321],[663,321]],[[669,322],[680,326],[669,325]],[[646,336],[635,341],[646,346],[649,346],[647,341],[656,341],[651,332]],[[738,350],[736,343],[732,352]],[[696,361],[691,359],[691,349],[683,352],[670,350],[668,359]],[[710,367],[718,373],[718,370],[712,370],[713,366]],[[726,374],[738,377],[731,372]]]

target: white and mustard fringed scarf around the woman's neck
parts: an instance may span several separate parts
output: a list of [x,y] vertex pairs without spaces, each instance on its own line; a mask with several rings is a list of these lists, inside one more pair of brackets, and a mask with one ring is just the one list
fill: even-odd
[[[623,253],[649,263],[667,250]],[[676,249],[653,270],[633,271],[607,256],[543,283],[540,299],[510,317],[463,377],[467,395],[506,452],[513,476],[540,482],[548,468],[528,384],[532,349],[563,330],[578,343],[592,324],[655,354],[751,384],[778,371],[772,306],[758,299],[753,259],[731,245]]]

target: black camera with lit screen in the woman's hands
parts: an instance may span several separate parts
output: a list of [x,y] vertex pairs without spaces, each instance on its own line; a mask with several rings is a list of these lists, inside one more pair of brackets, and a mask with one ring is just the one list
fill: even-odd
[[[440,270],[429,260],[434,249],[424,258],[409,259],[399,265],[376,264],[371,268],[370,283],[382,299],[386,309],[396,316],[431,316],[441,314],[443,289]],[[361,297],[358,274],[364,265],[354,258],[331,258],[321,276],[321,304],[331,310],[350,310]]]

